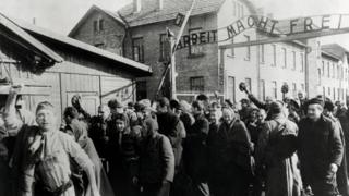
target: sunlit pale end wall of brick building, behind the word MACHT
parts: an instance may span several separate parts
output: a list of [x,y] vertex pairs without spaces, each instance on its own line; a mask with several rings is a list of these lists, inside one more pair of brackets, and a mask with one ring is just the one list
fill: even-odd
[[[241,7],[243,8],[241,10]],[[238,9],[239,8],[239,9]],[[240,11],[239,11],[240,10]],[[233,22],[250,15],[251,12],[248,7],[239,0],[225,1],[219,9],[218,15],[218,29],[225,28],[231,25]],[[224,29],[225,30],[225,29]],[[218,30],[218,40],[227,38],[227,33]],[[244,42],[256,39],[255,29],[246,29],[243,33],[229,39],[227,41],[220,41],[218,45],[226,45],[232,42]],[[256,46],[241,47],[234,49],[227,49],[219,51],[219,76],[222,77],[222,89],[225,90],[225,97],[231,99],[233,102],[238,102],[240,99],[245,98],[245,94],[239,90],[239,84],[245,82],[246,78],[251,79],[251,90],[253,94],[257,94],[257,59],[256,59]],[[248,50],[250,50],[250,58],[248,57]]]

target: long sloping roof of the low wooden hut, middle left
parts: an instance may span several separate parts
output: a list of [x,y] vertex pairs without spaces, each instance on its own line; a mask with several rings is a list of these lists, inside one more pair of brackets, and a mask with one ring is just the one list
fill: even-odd
[[62,35],[58,35],[56,33],[49,32],[47,29],[40,28],[38,26],[32,25],[28,23],[25,23],[20,20],[15,20],[15,22],[23,29],[25,29],[29,34],[34,35],[34,37],[36,37],[35,35],[40,35],[40,36],[44,36],[44,37],[49,38],[51,40],[55,40],[55,41],[61,42],[63,45],[67,45],[69,47],[81,50],[83,52],[96,54],[100,58],[111,60],[116,63],[121,64],[121,66],[123,66],[123,68],[132,69],[134,71],[137,71],[139,73],[141,72],[142,74],[145,74],[145,75],[149,75],[152,73],[152,69],[148,65],[135,62],[133,60],[123,58],[123,57],[118,56],[116,53],[111,53],[107,50],[99,49],[97,47],[79,41],[76,39],[73,39],[73,38],[70,38],[67,36],[62,36]]

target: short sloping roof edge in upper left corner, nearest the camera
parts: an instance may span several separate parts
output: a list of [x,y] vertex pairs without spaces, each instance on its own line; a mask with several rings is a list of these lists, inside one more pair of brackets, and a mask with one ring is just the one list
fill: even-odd
[[11,30],[13,34],[23,39],[26,44],[33,47],[33,49],[39,51],[41,54],[51,59],[53,62],[62,62],[63,58],[58,53],[52,51],[50,48],[46,47],[44,44],[35,39],[28,33],[23,30],[16,23],[0,13],[0,25],[4,26],[7,29]]

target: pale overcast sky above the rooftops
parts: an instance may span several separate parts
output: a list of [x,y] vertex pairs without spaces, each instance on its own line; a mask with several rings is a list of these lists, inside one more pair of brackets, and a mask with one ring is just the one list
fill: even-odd
[[[349,0],[251,1],[255,2],[256,7],[263,8],[265,13],[273,13],[275,19],[330,13],[349,14]],[[0,12],[31,23],[35,17],[36,25],[67,35],[91,5],[118,10],[130,2],[132,0],[0,0]],[[338,42],[349,50],[349,34],[326,37],[324,42]]]

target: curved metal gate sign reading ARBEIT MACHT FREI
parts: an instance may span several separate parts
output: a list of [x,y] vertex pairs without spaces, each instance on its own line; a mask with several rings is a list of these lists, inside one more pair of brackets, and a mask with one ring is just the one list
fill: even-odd
[[349,28],[349,14],[327,14],[281,21],[266,16],[249,15],[226,27],[184,35],[181,37],[177,49],[186,48],[191,45],[224,42],[250,28],[257,28],[261,32],[276,37],[347,29]]

